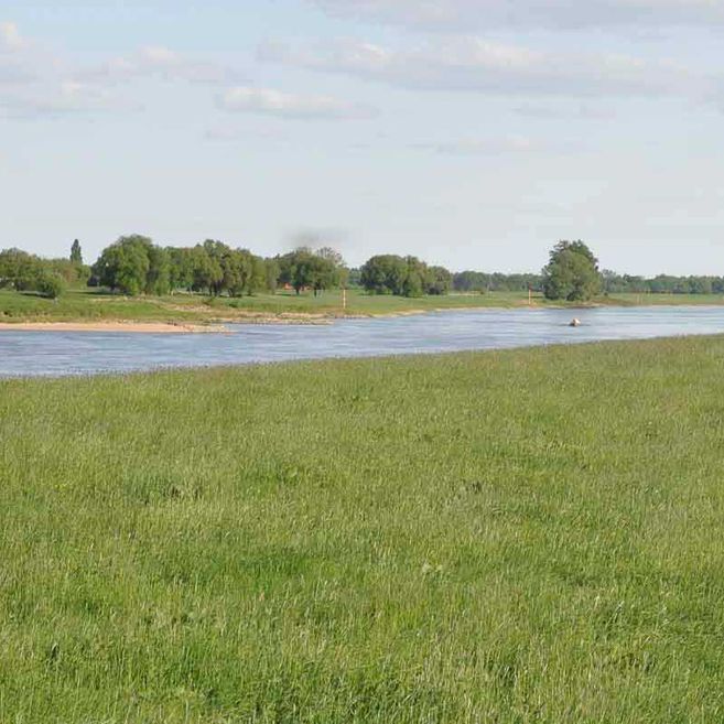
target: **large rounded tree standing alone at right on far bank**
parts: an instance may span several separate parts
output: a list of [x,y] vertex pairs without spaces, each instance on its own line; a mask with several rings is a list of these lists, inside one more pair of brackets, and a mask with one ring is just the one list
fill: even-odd
[[598,260],[583,241],[559,241],[543,269],[543,292],[550,300],[584,302],[602,290]]

